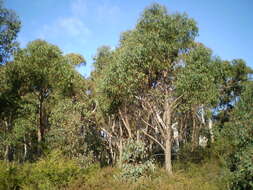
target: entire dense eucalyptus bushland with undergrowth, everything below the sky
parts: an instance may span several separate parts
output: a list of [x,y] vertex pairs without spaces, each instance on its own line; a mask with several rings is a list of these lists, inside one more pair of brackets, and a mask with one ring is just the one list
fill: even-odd
[[252,69],[186,14],[147,7],[89,78],[2,3],[0,27],[0,189],[253,188]]

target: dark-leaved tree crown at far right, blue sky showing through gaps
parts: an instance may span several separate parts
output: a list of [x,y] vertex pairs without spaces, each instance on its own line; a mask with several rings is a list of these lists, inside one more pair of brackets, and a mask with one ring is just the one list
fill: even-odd
[[217,60],[214,63],[216,83],[219,84],[219,101],[214,118],[216,124],[222,127],[230,120],[235,103],[239,100],[244,84],[250,80],[252,69],[242,59],[232,61]]

